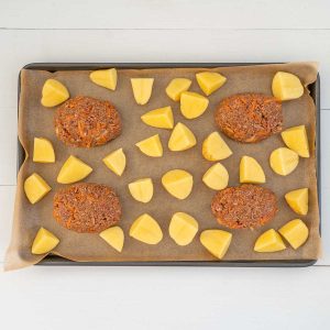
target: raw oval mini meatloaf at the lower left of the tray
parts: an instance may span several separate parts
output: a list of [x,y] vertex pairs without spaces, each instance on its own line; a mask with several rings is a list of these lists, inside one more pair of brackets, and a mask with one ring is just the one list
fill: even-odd
[[110,187],[76,184],[55,194],[53,216],[66,229],[95,233],[119,222],[121,206]]

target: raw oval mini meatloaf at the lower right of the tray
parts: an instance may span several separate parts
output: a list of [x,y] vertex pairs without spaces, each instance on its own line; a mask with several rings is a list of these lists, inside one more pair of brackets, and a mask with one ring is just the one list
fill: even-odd
[[277,200],[270,189],[242,185],[218,191],[211,210],[218,222],[228,228],[256,228],[275,217]]

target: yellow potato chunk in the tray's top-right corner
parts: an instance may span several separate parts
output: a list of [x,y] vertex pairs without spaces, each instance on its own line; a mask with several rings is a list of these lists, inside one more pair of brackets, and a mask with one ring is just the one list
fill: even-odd
[[304,94],[300,79],[289,73],[278,72],[272,82],[273,95],[280,101],[298,99]]

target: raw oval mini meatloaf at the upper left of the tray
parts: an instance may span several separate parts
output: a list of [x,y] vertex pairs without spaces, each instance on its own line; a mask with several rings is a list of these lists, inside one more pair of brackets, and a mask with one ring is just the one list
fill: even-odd
[[66,145],[91,147],[120,135],[121,120],[109,101],[78,96],[57,108],[55,132]]

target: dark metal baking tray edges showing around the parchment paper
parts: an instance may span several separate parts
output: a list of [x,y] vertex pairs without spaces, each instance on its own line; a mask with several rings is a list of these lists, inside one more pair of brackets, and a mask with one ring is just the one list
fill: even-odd
[[[101,68],[116,67],[118,69],[143,69],[143,68],[175,68],[175,67],[221,67],[221,66],[249,66],[274,63],[31,63],[23,69],[37,69],[47,72],[57,70],[96,70]],[[321,154],[320,154],[320,77],[309,85],[310,96],[316,105],[316,158],[317,158],[317,186],[319,199],[319,212],[321,213]],[[20,101],[21,75],[19,75],[18,97]],[[23,164],[25,152],[18,141],[18,170]],[[320,215],[321,233],[321,215]],[[47,255],[37,265],[53,266],[217,266],[217,267],[306,267],[311,266],[317,260],[277,260],[277,261],[151,261],[151,262],[74,262],[56,255]]]

